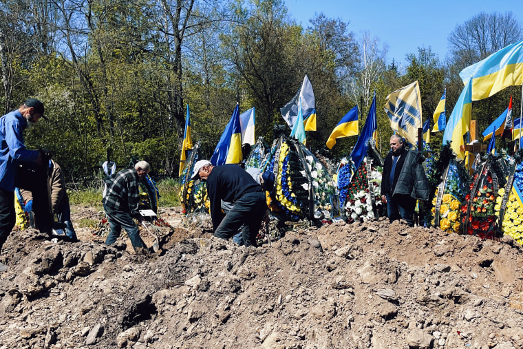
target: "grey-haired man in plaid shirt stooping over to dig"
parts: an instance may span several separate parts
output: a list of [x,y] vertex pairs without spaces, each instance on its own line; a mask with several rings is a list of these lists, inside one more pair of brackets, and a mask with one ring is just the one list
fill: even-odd
[[139,161],[134,165],[134,169],[124,169],[106,180],[107,193],[102,202],[111,227],[111,232],[105,240],[106,245],[114,244],[123,228],[127,231],[134,251],[138,251],[138,248],[147,249],[133,218],[140,223],[143,220],[138,211],[140,180],[145,178],[149,169],[151,167],[147,162]]

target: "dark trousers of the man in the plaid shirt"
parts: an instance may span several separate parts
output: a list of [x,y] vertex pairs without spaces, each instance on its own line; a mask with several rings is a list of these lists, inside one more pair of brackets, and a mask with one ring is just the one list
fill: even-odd
[[140,237],[140,229],[138,229],[138,226],[131,217],[131,213],[114,211],[113,209],[105,206],[105,204],[103,205],[103,209],[105,210],[105,215],[107,215],[107,220],[109,221],[109,226],[111,227],[111,231],[105,240],[106,245],[114,244],[118,237],[120,237],[120,233],[122,232],[123,228],[127,232],[129,240],[131,240],[134,251],[136,251],[137,248],[147,248],[145,242],[142,240],[142,237]]

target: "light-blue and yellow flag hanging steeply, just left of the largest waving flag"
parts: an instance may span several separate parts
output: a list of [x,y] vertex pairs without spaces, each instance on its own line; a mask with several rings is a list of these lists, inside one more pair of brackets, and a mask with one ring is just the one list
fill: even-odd
[[461,151],[460,146],[464,144],[463,136],[469,131],[472,118],[471,86],[472,79],[469,79],[469,83],[463,88],[454,106],[449,122],[445,126],[445,134],[443,134],[443,145],[450,141],[452,150],[458,154],[460,159],[465,158],[465,152]]

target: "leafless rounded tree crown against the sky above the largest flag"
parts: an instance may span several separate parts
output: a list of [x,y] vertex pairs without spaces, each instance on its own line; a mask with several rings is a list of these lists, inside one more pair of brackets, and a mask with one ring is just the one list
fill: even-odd
[[467,67],[523,38],[522,25],[512,12],[480,12],[449,35],[452,59]]

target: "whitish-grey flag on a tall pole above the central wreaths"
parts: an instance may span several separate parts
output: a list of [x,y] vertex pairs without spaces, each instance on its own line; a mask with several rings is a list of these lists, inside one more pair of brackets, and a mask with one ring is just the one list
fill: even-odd
[[[314,112],[314,123],[316,123],[314,103],[314,91],[312,91],[312,84],[306,75],[303,78],[303,83],[301,83],[297,94],[292,97],[283,108],[280,108],[281,116],[284,118],[287,125],[289,125],[290,129],[293,129],[298,118],[298,109],[301,108],[301,116],[303,120],[308,119]],[[311,129],[310,131],[316,131],[315,124],[314,129]]]

